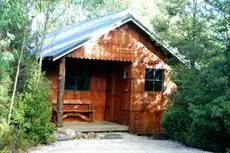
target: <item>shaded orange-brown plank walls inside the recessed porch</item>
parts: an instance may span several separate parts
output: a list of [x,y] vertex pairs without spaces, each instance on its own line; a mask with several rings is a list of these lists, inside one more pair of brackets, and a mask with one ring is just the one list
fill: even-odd
[[[129,116],[127,115],[129,112],[129,100],[127,98],[130,97],[130,94],[127,94],[127,92],[124,92],[125,89],[127,89],[128,79],[122,79],[123,75],[123,67],[127,67],[127,65],[130,65],[130,63],[127,62],[107,62],[107,61],[95,61],[95,60],[81,60],[81,59],[71,59],[66,58],[66,62],[68,63],[69,60],[75,60],[76,65],[78,66],[84,66],[88,65],[89,68],[92,70],[92,79],[90,82],[90,91],[64,91],[64,100],[82,100],[82,101],[91,101],[92,108],[95,110],[95,121],[104,121],[104,120],[110,120],[114,121],[114,118],[109,118],[110,113],[112,112],[111,109],[116,109],[116,112],[118,115],[115,115],[116,118],[121,119],[117,123],[128,125],[129,122]],[[58,61],[57,62],[44,62],[43,63],[43,70],[46,71],[46,74],[48,76],[48,79],[51,81],[51,87],[52,87],[52,101],[55,101],[57,99],[57,91],[58,91]],[[68,64],[67,64],[68,65]],[[73,69],[74,71],[74,69]],[[111,93],[111,87],[109,87],[108,81],[110,80],[111,74],[115,74],[114,82],[115,86],[115,93],[114,97],[116,102],[116,108],[106,107],[106,101],[110,102],[112,95]],[[122,81],[122,82],[121,82]],[[84,106],[79,106],[84,109]],[[64,110],[73,109],[70,105],[63,106]],[[121,108],[121,109],[120,109]],[[106,113],[107,111],[107,113]],[[126,115],[126,117],[120,117]],[[106,117],[106,115],[108,115]],[[66,118],[65,121],[79,121],[79,118],[77,117],[70,117]]]

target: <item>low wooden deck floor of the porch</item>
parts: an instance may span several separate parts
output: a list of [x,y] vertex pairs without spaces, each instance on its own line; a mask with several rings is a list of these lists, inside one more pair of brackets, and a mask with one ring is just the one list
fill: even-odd
[[59,128],[72,129],[78,132],[114,132],[114,131],[128,131],[128,126],[120,125],[107,121],[98,122],[64,122],[64,126]]

